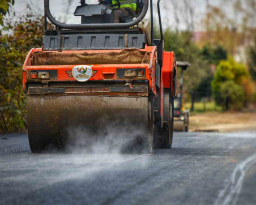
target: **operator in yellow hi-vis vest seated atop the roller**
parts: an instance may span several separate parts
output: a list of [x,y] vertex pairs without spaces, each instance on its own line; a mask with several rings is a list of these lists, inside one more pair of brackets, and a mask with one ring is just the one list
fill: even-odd
[[[105,3],[106,5],[113,5],[115,9],[114,14],[114,23],[120,23],[120,20],[127,17],[136,17],[138,14],[136,0],[99,0],[100,3]],[[118,5],[120,3],[120,7]]]

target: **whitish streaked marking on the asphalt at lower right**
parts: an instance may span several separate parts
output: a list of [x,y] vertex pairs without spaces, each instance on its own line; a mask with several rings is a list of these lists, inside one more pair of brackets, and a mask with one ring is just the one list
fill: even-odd
[[214,205],[236,204],[238,196],[241,192],[245,174],[250,167],[256,163],[256,153],[248,157],[245,161],[238,164],[234,169],[227,185],[220,191]]

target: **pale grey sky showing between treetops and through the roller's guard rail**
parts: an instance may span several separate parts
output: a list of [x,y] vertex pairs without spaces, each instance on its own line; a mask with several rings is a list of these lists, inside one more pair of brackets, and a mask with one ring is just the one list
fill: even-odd
[[[155,3],[156,0],[153,0]],[[172,1],[177,2],[178,15],[181,18],[179,29],[186,29],[186,13],[182,10],[182,1],[181,0],[163,0],[161,2],[161,12],[163,14],[163,26],[164,28],[176,28],[176,20],[174,19],[174,8]],[[221,0],[208,0],[213,5],[218,5]],[[67,9],[67,0],[50,0],[50,10],[53,16],[66,23],[80,23],[80,17],[75,17],[73,15],[76,6],[80,5],[79,0],[73,0],[69,9]],[[206,14],[206,2],[207,0],[190,0],[189,1],[194,8],[194,21],[195,21],[195,30],[202,30],[202,18]],[[44,0],[16,0],[15,5],[12,7],[12,10],[16,14],[24,14],[26,12],[26,5],[29,3],[33,8],[33,11],[44,15]],[[87,3],[97,3],[97,0],[87,0]],[[150,12],[147,14],[147,18],[150,18]],[[154,10],[154,14],[157,17],[157,10]]]

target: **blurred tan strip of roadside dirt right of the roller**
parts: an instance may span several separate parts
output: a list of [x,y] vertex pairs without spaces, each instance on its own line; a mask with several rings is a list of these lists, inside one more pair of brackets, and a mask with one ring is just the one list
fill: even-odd
[[202,113],[190,116],[190,131],[256,132],[256,112]]

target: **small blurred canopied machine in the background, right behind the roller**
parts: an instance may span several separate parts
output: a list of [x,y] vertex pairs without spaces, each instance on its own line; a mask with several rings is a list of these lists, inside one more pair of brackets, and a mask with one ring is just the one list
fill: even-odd
[[184,71],[190,67],[189,62],[177,61],[177,67],[181,69],[180,83],[177,96],[174,98],[174,131],[189,131],[189,110],[185,109],[183,97],[183,77]]

